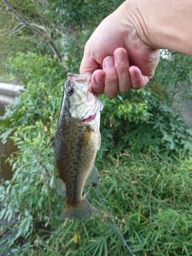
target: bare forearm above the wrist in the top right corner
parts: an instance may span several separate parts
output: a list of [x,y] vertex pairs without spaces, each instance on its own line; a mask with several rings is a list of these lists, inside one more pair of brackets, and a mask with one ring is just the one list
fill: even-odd
[[126,0],[120,9],[147,45],[192,55],[191,0]]

